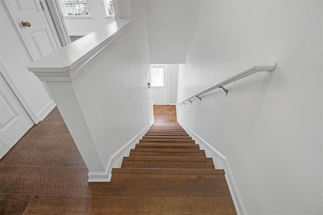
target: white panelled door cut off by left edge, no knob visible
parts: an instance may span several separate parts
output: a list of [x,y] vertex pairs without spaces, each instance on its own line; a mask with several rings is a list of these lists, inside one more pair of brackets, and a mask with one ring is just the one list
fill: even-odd
[[34,125],[0,74],[0,158]]

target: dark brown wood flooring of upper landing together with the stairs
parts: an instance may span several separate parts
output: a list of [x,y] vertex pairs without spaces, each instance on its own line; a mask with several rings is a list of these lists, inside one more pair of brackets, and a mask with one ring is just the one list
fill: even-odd
[[172,113],[113,170],[110,183],[87,183],[83,159],[53,110],[0,161],[0,214],[236,214],[224,172],[184,130],[165,125],[176,119]]

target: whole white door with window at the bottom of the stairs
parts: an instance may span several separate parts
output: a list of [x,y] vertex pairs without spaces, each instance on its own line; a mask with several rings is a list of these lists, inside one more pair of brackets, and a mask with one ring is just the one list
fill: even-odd
[[148,96],[154,104],[168,104],[168,73],[168,64],[150,65]]

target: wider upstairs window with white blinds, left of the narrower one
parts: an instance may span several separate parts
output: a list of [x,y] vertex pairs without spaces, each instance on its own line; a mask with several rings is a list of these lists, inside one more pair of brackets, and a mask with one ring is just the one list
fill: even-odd
[[85,0],[61,0],[64,16],[89,16]]

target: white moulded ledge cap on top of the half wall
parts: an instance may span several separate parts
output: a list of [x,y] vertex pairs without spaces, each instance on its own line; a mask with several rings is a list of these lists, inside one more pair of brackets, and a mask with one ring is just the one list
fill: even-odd
[[41,81],[72,82],[110,47],[132,20],[119,19],[27,66]]

